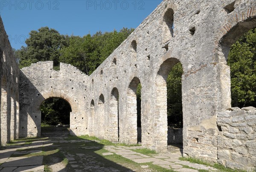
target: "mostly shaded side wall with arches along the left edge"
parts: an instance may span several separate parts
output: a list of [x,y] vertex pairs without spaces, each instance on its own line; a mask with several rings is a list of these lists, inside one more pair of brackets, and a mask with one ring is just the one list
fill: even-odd
[[20,72],[0,17],[0,146],[19,136]]

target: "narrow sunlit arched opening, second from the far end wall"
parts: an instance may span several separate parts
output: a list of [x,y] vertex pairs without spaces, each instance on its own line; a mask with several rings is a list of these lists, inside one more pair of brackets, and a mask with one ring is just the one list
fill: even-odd
[[97,118],[97,137],[99,138],[104,138],[105,135],[105,99],[103,94],[99,96],[99,101],[97,105],[97,113],[96,113],[96,118]]

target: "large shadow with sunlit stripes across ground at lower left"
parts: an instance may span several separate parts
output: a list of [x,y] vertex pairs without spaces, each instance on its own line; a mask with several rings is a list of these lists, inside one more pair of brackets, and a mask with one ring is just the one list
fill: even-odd
[[[26,144],[30,143],[30,144]],[[26,138],[17,140],[0,151],[0,171],[49,171],[53,172],[132,172],[96,152],[104,152],[98,141],[76,136]],[[67,161],[68,160],[68,161]]]

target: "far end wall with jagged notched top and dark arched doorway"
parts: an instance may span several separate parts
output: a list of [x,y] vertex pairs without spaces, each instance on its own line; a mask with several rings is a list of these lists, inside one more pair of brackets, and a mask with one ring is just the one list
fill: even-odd
[[41,135],[40,105],[45,99],[59,97],[72,109],[72,135],[86,135],[87,75],[71,65],[60,64],[53,70],[53,62],[38,62],[20,70],[20,137]]

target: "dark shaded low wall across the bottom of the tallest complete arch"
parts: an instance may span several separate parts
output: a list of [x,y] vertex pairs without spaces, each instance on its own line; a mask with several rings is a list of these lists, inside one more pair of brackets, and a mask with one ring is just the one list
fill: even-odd
[[168,135],[167,135],[167,143],[168,144],[182,144],[182,130],[183,128],[169,128],[168,127]]

